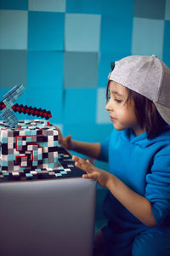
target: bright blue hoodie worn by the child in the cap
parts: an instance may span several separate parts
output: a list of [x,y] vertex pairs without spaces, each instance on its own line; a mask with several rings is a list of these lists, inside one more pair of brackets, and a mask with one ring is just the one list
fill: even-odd
[[[170,125],[154,139],[148,139],[146,132],[136,137],[132,129],[113,130],[101,144],[99,160],[109,161],[111,173],[150,201],[157,226],[170,227]],[[103,210],[118,233],[144,230],[144,224],[110,191]]]

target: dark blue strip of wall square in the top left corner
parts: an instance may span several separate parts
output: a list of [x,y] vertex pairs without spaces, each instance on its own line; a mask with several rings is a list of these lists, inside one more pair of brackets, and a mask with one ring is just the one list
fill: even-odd
[[1,0],[0,9],[28,9],[28,0]]

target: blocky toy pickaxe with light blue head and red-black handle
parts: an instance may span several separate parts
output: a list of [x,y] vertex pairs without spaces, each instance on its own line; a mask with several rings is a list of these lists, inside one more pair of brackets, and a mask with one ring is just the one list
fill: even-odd
[[23,106],[22,104],[14,104],[14,101],[16,101],[22,94],[22,90],[26,88],[26,85],[20,84],[15,85],[11,90],[9,90],[3,97],[4,100],[0,102],[0,110],[2,113],[0,116],[3,118],[3,121],[5,121],[9,127],[13,128],[18,124],[18,119],[14,116],[14,112],[19,113],[27,113],[28,115],[37,115],[37,117],[49,119],[52,117],[50,111],[46,111],[45,109],[41,108],[32,108],[27,107],[26,105]]

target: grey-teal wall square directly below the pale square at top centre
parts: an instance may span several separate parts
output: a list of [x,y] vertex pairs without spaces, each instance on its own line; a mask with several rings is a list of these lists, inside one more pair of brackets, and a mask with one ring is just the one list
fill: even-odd
[[65,52],[65,88],[98,85],[98,53]]

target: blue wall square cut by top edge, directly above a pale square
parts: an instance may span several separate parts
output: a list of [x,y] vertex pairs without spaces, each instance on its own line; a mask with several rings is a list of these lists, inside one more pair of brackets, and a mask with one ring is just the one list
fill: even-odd
[[67,0],[66,12],[100,15],[102,13],[102,0]]

